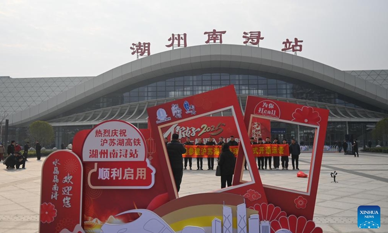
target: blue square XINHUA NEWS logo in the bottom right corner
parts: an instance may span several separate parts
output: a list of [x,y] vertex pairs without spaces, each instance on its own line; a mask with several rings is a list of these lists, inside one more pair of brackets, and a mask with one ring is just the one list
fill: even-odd
[[361,229],[380,228],[380,206],[360,205],[357,209],[357,226]]

